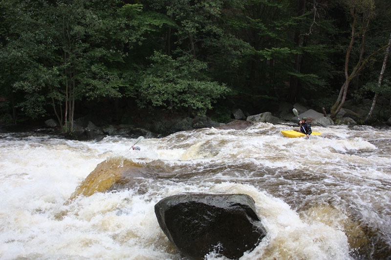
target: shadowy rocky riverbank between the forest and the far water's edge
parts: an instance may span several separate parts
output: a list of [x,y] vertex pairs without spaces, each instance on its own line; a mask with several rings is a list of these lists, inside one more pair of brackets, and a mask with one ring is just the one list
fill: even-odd
[[[200,128],[224,128],[224,129],[243,129],[256,122],[266,123],[288,123],[296,124],[297,117],[292,109],[296,108],[299,117],[306,117],[312,126],[324,126],[334,124],[356,125],[362,122],[368,113],[361,107],[343,108],[337,117],[332,120],[325,112],[315,111],[300,103],[294,105],[283,103],[277,111],[265,111],[256,115],[246,115],[241,109],[232,111],[231,120],[218,122],[209,117],[187,117],[177,113],[167,113],[163,111],[136,111],[132,114],[122,115],[120,120],[110,120],[110,117],[99,115],[85,115],[77,118],[73,123],[73,133],[66,135],[66,138],[77,140],[101,140],[106,136],[126,136],[135,138],[145,137],[163,137],[179,131],[200,129]],[[391,118],[383,122],[382,125],[391,126]],[[34,131],[64,135],[58,122],[54,119],[48,119],[41,124],[33,125]],[[4,131],[5,130],[5,131]],[[3,132],[12,131],[12,128],[2,129]]]

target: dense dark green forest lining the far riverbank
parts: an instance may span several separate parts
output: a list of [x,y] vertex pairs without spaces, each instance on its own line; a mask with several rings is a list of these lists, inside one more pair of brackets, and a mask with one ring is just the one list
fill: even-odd
[[[391,105],[390,0],[0,0],[0,117]],[[389,109],[390,110],[390,109]],[[388,110],[388,111],[389,111]]]

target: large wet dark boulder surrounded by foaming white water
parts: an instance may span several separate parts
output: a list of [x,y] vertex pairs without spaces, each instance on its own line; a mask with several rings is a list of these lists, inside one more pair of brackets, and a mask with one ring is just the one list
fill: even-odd
[[216,252],[238,259],[265,236],[254,200],[245,194],[174,195],[155,205],[161,229],[192,259]]

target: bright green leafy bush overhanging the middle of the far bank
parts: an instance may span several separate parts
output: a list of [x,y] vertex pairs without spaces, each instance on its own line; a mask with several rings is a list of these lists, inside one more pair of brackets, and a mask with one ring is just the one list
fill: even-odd
[[202,74],[206,69],[205,62],[190,56],[174,60],[156,52],[143,75],[140,96],[153,106],[167,109],[191,106],[198,115],[204,116],[214,101],[228,93],[224,84],[209,81]]

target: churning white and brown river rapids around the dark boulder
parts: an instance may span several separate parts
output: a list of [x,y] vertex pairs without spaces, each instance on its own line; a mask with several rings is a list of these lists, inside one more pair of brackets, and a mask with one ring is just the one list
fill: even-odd
[[255,200],[267,235],[240,260],[391,259],[391,129],[287,129],[183,131],[140,151],[127,137],[0,133],[0,259],[186,260],[154,214],[185,193]]

